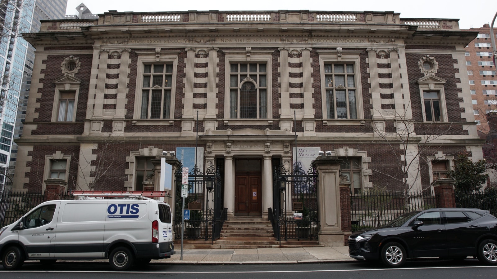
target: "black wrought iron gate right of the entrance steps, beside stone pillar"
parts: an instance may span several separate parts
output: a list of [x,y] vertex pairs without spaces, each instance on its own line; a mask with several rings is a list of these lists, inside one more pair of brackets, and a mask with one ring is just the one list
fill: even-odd
[[314,168],[306,172],[296,165],[293,173],[282,166],[274,170],[273,209],[268,211],[278,241],[317,239],[318,209],[318,174]]

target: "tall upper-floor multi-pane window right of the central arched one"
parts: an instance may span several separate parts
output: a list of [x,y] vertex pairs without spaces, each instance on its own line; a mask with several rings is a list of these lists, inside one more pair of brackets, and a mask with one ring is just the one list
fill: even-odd
[[357,119],[355,67],[325,64],[327,115],[330,119]]

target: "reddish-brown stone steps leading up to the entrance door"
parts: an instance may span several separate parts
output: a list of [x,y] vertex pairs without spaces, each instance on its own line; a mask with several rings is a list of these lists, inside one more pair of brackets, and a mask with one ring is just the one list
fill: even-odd
[[[175,241],[179,247],[181,241]],[[184,240],[184,249],[243,249],[243,248],[291,248],[323,247],[318,241],[279,241],[273,237],[271,222],[261,217],[235,216],[224,222],[221,237],[214,242],[208,240]]]

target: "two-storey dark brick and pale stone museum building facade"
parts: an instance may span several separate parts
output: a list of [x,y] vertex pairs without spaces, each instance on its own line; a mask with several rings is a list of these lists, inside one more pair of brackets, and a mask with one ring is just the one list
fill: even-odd
[[155,159],[194,147],[198,132],[231,215],[244,213],[245,194],[267,214],[272,170],[291,169],[295,134],[298,153],[343,160],[352,192],[404,181],[433,191],[457,152],[483,156],[465,58],[477,34],[456,19],[372,11],[42,21],[26,34],[36,58],[14,188],[42,192],[52,178],[159,189]]

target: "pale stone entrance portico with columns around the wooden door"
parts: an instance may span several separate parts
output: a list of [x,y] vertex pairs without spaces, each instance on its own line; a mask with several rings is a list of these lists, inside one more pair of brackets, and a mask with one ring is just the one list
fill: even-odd
[[[224,207],[228,215],[261,215],[272,207],[273,159],[291,167],[289,131],[209,130],[199,136],[206,143],[206,164],[224,158]],[[248,164],[248,165],[245,165]],[[258,164],[258,165],[254,165]]]

